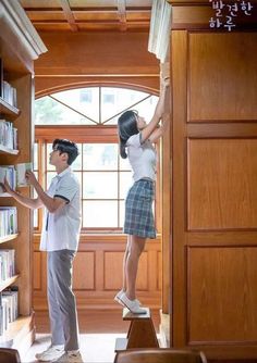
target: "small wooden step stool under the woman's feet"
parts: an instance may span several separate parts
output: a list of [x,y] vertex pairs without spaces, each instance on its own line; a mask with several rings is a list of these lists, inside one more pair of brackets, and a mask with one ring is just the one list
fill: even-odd
[[131,321],[126,338],[118,338],[115,352],[133,348],[159,348],[155,326],[149,308],[144,308],[146,314],[133,314],[128,309],[123,309],[123,321]]

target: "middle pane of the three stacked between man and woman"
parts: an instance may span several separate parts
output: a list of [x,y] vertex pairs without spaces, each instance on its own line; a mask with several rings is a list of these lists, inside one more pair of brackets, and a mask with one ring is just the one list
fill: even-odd
[[118,173],[117,172],[83,173],[83,198],[117,199]]

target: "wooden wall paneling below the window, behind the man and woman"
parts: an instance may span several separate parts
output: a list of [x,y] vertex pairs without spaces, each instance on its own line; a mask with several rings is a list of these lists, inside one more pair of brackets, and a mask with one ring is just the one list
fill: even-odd
[[[122,287],[125,236],[82,236],[74,260],[73,289],[77,309],[120,309],[113,297]],[[34,309],[47,309],[47,253],[39,251],[39,235],[34,237]],[[144,304],[160,308],[158,259],[160,240],[147,242],[139,260],[137,291]]]

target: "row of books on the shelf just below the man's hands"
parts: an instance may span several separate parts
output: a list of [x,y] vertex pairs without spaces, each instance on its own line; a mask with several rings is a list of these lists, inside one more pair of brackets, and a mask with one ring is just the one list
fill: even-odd
[[0,206],[0,238],[17,233],[16,206]]

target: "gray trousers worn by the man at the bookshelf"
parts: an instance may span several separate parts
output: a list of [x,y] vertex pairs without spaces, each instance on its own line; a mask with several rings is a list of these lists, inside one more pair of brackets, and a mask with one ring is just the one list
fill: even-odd
[[78,349],[76,300],[72,291],[72,263],[75,251],[48,252],[48,308],[52,345],[65,351]]

